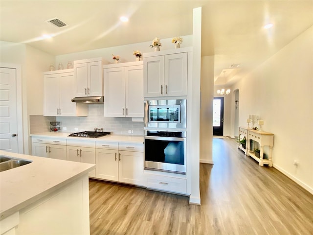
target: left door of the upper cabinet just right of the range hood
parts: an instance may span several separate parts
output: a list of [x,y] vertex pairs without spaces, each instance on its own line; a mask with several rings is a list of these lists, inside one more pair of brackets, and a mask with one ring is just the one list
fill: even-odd
[[104,69],[104,116],[125,117],[125,69]]

